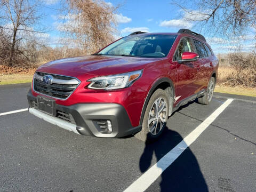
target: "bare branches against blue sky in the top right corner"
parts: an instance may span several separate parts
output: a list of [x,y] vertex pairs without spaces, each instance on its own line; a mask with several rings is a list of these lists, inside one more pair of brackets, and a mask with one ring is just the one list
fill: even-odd
[[173,3],[185,11],[186,19],[200,21],[214,35],[233,38],[256,29],[255,0],[173,0]]

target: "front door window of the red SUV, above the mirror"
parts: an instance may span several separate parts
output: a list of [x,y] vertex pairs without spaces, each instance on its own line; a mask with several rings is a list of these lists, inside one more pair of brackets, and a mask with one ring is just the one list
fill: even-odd
[[174,54],[174,61],[181,60],[181,56],[183,52],[193,52],[193,46],[190,38],[183,38],[178,45],[178,49]]

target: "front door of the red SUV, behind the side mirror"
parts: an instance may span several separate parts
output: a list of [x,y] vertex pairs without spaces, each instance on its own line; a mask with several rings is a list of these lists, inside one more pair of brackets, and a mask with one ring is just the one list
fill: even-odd
[[195,61],[178,63],[183,52],[194,52],[193,42],[189,37],[183,37],[175,51],[173,63],[177,66],[178,81],[175,85],[175,103],[193,95],[197,90],[196,85],[197,68]]

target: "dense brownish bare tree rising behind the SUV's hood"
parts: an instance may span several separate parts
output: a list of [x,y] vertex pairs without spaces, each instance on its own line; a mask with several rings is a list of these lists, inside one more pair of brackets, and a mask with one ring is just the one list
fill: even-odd
[[[93,53],[114,40],[117,7],[102,0],[66,0],[59,30],[85,53]],[[62,12],[62,13],[63,13]]]

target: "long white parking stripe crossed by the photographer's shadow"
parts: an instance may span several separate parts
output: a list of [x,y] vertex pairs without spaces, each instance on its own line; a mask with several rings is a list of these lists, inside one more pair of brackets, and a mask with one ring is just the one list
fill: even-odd
[[233,101],[228,99],[219,108],[217,108],[209,117],[187,135],[177,146],[163,156],[156,164],[150,167],[136,181],[132,183],[124,192],[145,191],[163,172],[177,159],[187,147],[191,145],[199,135],[222,113],[226,107]]

